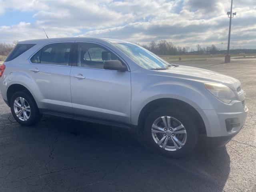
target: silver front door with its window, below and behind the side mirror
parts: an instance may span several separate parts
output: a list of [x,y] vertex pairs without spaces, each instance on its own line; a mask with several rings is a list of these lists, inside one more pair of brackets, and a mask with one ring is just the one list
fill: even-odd
[[96,43],[78,42],[76,50],[70,73],[74,116],[130,124],[130,72],[103,68],[104,60],[120,58]]

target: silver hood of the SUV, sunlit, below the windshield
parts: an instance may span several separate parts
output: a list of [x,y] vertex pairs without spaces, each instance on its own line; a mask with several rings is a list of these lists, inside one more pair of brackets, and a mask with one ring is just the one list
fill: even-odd
[[180,65],[168,70],[159,70],[158,72],[162,75],[168,75],[172,77],[186,78],[202,82],[222,83],[232,90],[236,90],[236,88],[240,86],[240,81],[233,77],[196,67]]

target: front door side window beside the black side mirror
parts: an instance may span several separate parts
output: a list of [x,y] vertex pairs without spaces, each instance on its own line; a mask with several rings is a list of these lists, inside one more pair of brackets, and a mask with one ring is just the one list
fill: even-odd
[[103,69],[105,60],[120,60],[106,48],[92,43],[78,43],[77,66]]

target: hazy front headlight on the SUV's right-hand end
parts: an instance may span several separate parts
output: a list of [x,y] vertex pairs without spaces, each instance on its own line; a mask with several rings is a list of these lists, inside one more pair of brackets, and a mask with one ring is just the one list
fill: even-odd
[[220,83],[204,83],[205,88],[219,100],[230,103],[236,100],[234,92],[226,85]]

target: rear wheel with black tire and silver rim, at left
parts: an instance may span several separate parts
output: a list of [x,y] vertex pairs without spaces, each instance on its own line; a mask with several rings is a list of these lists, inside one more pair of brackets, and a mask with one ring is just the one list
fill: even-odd
[[[24,101],[24,106],[21,105],[22,101]],[[14,119],[23,126],[33,125],[42,117],[34,98],[30,92],[26,90],[15,92],[12,95],[10,100],[10,108]],[[16,115],[16,113],[18,114]],[[19,115],[20,117],[18,117]]]

